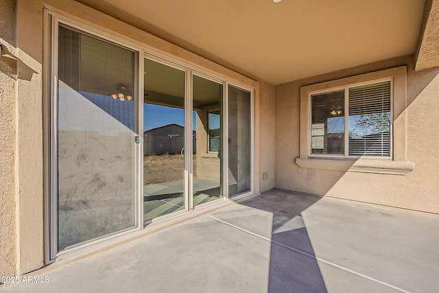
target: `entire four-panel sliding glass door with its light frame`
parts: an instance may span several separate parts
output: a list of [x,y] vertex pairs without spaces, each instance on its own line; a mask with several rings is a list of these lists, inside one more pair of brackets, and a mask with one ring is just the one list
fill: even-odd
[[252,191],[251,91],[64,21],[51,19],[52,259]]

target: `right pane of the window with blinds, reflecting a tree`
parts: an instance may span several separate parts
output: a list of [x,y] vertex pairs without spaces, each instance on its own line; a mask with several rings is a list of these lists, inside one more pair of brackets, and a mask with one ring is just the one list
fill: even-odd
[[390,156],[390,81],[349,89],[349,156]]

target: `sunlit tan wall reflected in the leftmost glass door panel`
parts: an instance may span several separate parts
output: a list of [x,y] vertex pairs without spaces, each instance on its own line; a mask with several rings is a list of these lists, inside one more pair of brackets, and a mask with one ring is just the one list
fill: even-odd
[[[106,98],[116,107],[128,105]],[[61,81],[58,100],[58,245],[62,249],[134,226],[134,132],[119,115],[110,115],[105,99],[98,106]]]

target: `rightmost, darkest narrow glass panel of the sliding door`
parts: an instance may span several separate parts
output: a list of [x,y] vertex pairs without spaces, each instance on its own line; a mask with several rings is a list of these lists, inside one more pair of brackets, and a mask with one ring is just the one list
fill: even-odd
[[251,95],[228,86],[228,196],[251,189]]

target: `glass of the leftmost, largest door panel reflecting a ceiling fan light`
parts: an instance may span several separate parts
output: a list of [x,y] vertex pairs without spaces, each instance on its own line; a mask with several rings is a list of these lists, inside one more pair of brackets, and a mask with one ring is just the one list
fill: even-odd
[[137,53],[58,30],[58,251],[135,226]]

